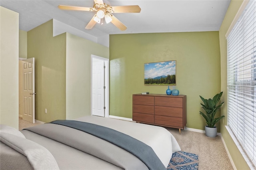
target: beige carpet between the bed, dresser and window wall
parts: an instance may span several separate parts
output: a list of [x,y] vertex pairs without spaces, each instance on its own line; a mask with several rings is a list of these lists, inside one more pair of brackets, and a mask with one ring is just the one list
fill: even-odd
[[198,155],[199,170],[233,170],[220,136],[210,138],[205,133],[166,128],[178,141],[183,152]]

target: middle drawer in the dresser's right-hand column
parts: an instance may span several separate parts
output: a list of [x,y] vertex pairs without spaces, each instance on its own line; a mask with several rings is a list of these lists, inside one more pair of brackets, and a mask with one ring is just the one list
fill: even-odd
[[180,107],[163,107],[155,106],[155,115],[170,116],[170,117],[183,117],[183,109]]

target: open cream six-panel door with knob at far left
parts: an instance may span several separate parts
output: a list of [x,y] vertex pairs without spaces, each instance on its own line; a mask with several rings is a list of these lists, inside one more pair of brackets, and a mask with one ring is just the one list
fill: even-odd
[[23,84],[23,115],[22,119],[35,123],[35,73],[34,58],[22,60],[22,84]]

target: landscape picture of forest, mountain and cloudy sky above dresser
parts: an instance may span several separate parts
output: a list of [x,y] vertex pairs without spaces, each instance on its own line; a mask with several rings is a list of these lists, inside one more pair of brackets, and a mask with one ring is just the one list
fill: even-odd
[[145,63],[144,85],[176,85],[176,60]]

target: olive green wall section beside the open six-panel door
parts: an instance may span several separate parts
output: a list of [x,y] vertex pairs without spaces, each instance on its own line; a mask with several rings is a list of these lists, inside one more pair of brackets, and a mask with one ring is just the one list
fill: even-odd
[[[35,57],[35,119],[66,119],[66,34],[52,37],[52,20],[28,31],[28,58]],[[47,113],[44,110],[47,109]]]

